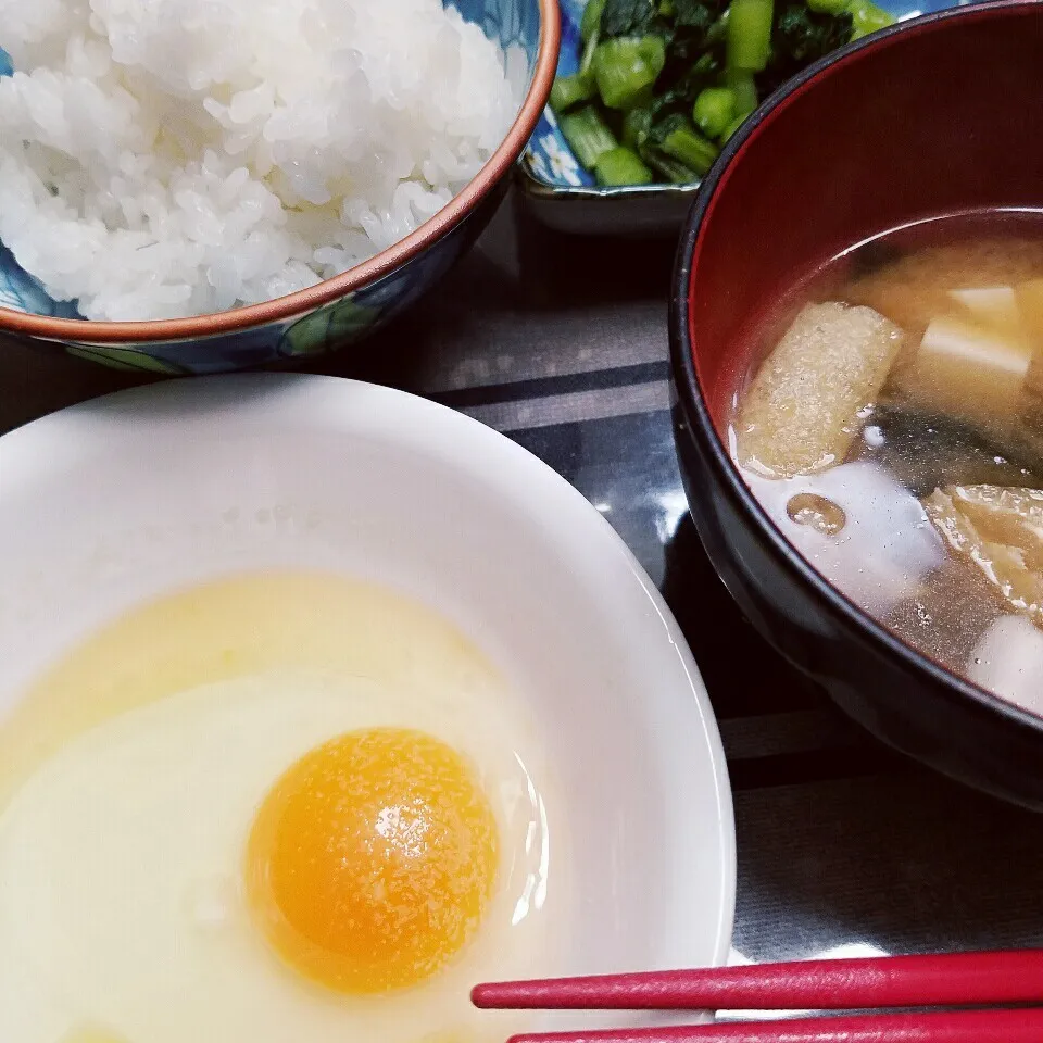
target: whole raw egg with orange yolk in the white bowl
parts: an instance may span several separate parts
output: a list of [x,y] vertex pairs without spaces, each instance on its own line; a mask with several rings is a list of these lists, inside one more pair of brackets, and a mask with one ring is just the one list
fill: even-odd
[[550,775],[507,679],[392,591],[146,605],[0,721],[0,1040],[501,1043],[527,1016],[469,989],[553,967]]

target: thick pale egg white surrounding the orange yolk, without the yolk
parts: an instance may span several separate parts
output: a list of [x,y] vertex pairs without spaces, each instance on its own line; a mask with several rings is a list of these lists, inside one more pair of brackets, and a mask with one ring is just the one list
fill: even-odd
[[[473,1010],[468,991],[545,968],[554,802],[541,796],[539,743],[506,686],[466,677],[458,662],[418,688],[266,670],[168,695],[65,744],[0,816],[0,1040],[56,1043],[85,1027],[120,1043],[485,1043],[517,1031],[524,1020]],[[418,728],[470,758],[502,859],[479,935],[452,966],[360,1000],[279,960],[242,870],[279,776],[329,738],[373,726]]]

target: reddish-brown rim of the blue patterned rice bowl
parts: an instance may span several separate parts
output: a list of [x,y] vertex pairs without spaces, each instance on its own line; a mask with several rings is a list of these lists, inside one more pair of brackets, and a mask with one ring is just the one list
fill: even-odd
[[331,279],[272,301],[235,307],[226,312],[192,315],[187,318],[149,319],[114,323],[84,318],[55,318],[11,307],[0,307],[0,331],[38,337],[45,340],[72,340],[93,344],[133,341],[189,340],[231,334],[282,319],[302,317],[324,304],[388,275],[423,253],[466,218],[511,171],[536,129],[550,98],[561,48],[561,9],[558,0],[536,0],[540,11],[540,38],[532,77],[522,108],[506,137],[481,169],[441,210],[404,239],[381,250],[368,261],[356,264]]

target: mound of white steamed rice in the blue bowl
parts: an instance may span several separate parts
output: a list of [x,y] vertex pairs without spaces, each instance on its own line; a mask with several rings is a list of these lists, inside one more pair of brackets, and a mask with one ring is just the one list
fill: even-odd
[[503,140],[524,55],[440,0],[0,0],[0,241],[93,319],[344,272]]

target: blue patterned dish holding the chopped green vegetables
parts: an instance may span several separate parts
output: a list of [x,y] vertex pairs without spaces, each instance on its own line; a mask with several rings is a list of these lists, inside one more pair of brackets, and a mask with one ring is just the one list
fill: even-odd
[[[960,7],[963,0],[878,0],[901,21]],[[562,53],[558,72],[579,67],[579,23],[587,0],[561,0]],[[601,188],[573,155],[548,106],[518,163],[518,180],[539,221],[561,231],[596,236],[675,235],[699,185],[634,185]]]

